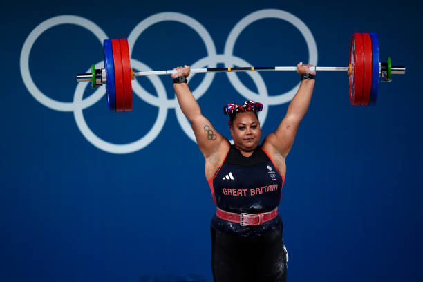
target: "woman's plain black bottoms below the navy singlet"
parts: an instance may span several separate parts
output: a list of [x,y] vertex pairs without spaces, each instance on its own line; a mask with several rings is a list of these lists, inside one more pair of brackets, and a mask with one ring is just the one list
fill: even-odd
[[211,227],[212,272],[215,282],[286,281],[282,225],[272,234],[249,238]]

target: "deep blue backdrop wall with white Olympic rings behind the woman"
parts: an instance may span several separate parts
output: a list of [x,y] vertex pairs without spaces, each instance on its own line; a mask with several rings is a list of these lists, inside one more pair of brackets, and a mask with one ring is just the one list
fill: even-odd
[[[414,27],[423,6],[406,4],[8,3],[0,281],[212,281],[215,207],[171,79],[138,78],[133,111],[107,111],[104,87],[75,79],[103,66],[104,39],[128,38],[136,71],[348,66],[353,32],[376,32],[381,59],[392,57],[406,75],[379,86],[377,106],[357,108],[346,73],[317,74],[279,206],[288,279],[422,281],[423,41]],[[188,79],[229,139],[225,104],[262,102],[264,137],[299,86],[297,73]]]

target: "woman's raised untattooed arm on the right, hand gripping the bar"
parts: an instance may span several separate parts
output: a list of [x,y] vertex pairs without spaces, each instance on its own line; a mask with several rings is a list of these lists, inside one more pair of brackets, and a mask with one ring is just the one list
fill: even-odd
[[[310,66],[312,65],[297,64],[299,75],[303,75],[303,73],[316,75],[315,71],[309,69]],[[266,145],[270,144],[274,147],[283,158],[286,158],[290,152],[292,144],[294,144],[295,135],[297,135],[299,124],[307,113],[313,93],[314,82],[314,79],[304,79],[301,81],[297,93],[290,102],[290,106],[288,106],[285,118],[283,118],[276,131],[268,135],[265,140],[265,144],[267,143]]]

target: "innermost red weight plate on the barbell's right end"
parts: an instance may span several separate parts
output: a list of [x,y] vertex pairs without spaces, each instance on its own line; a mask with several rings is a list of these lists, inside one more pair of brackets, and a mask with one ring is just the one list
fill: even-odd
[[351,39],[350,64],[353,64],[353,74],[350,75],[350,102],[353,106],[359,106],[363,97],[364,73],[363,35],[361,33],[354,33]]

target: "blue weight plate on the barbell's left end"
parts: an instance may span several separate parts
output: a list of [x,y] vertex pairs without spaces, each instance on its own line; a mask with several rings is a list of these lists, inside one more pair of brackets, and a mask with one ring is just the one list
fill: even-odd
[[106,97],[109,111],[116,111],[115,67],[111,40],[104,40],[104,68],[106,68]]

